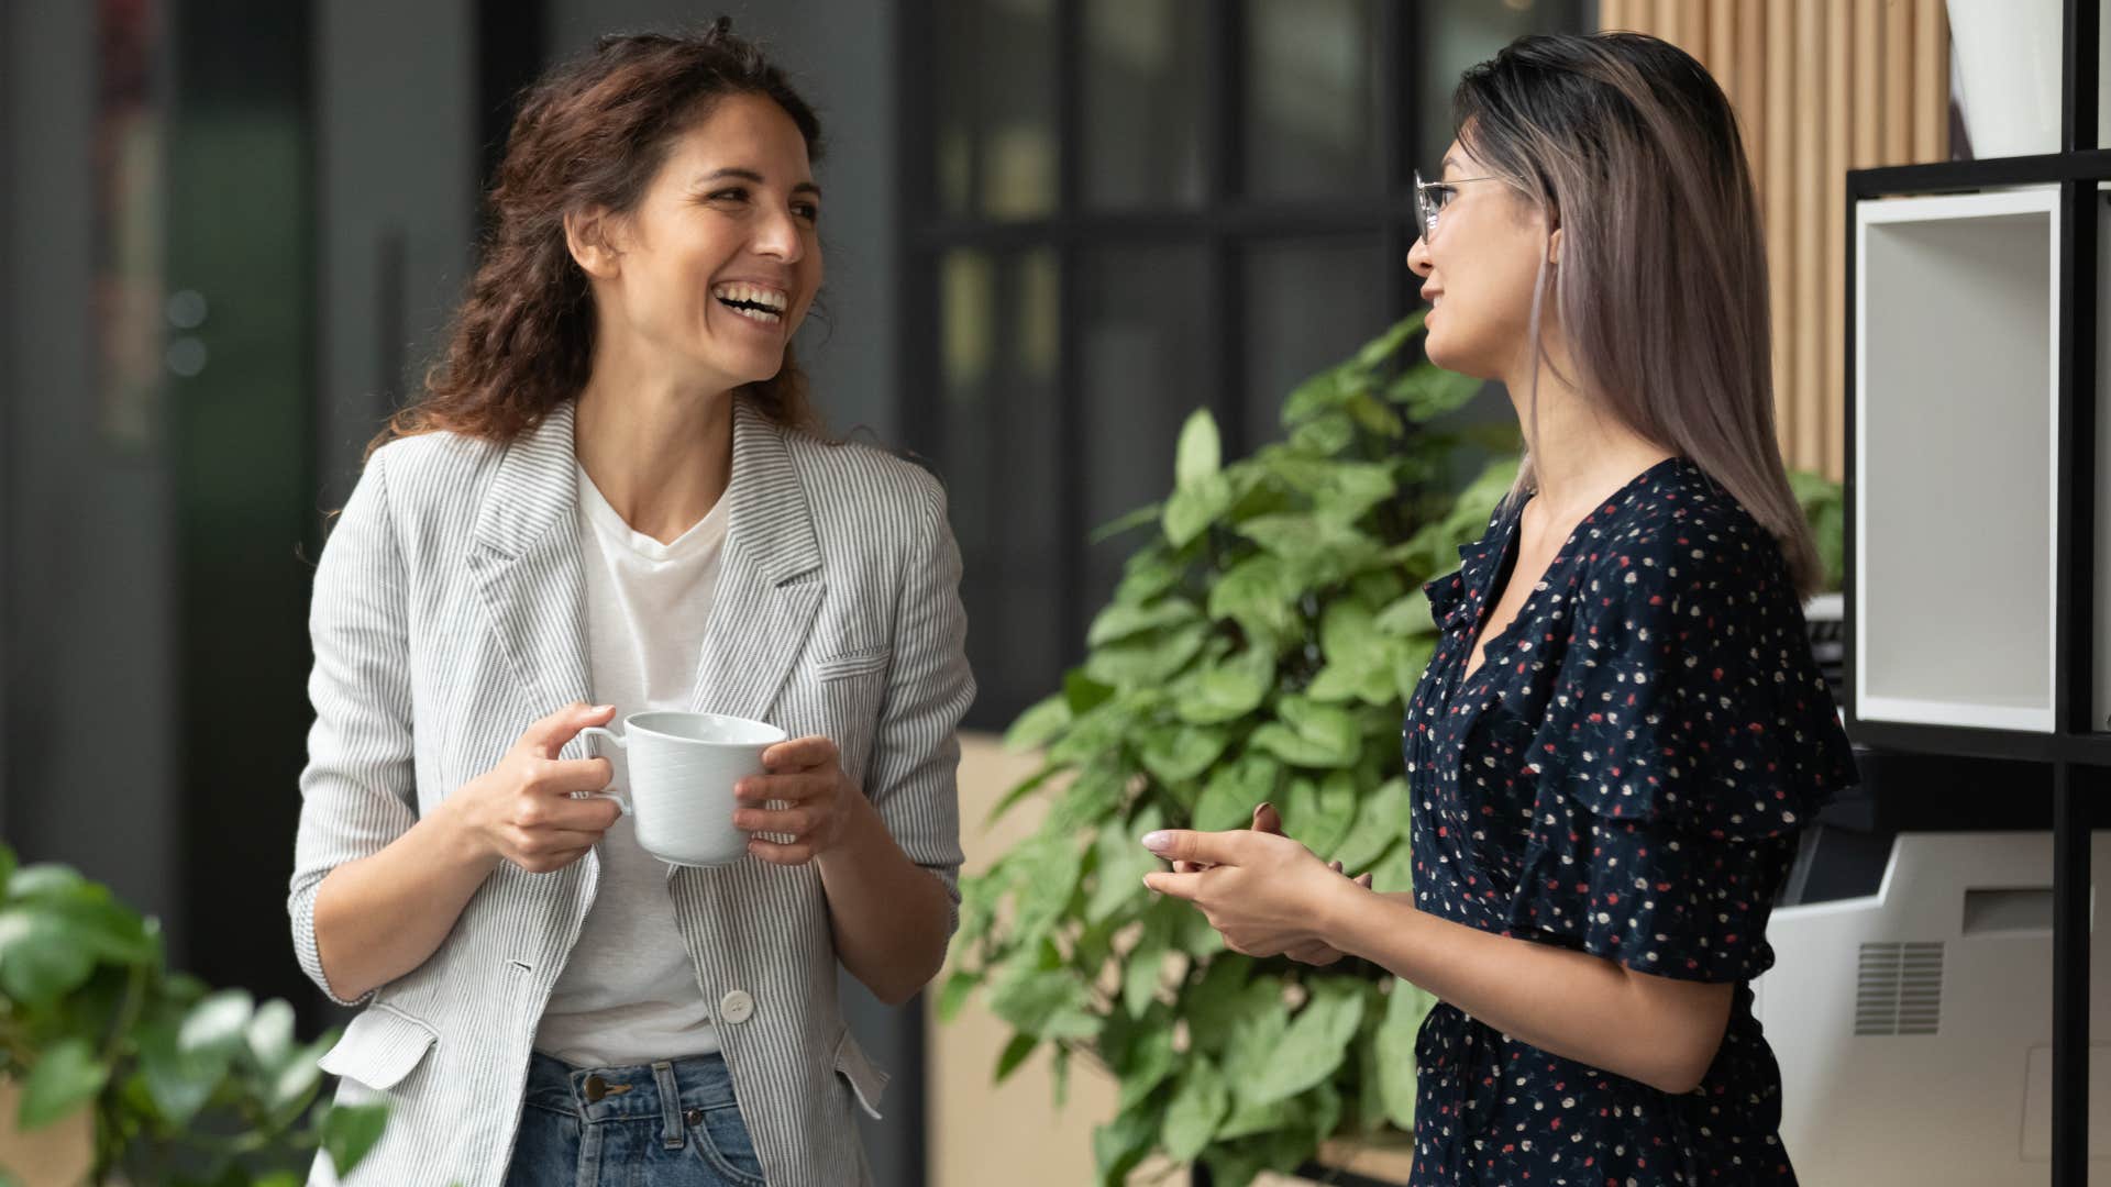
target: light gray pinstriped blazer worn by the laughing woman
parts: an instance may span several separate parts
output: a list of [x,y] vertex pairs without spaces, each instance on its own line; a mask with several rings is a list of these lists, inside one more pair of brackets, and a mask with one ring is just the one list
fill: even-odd
[[[511,446],[431,433],[367,463],[315,577],[315,729],[289,912],[323,993],[315,891],[587,680],[572,406]],[[692,708],[828,735],[901,849],[958,906],[954,727],[973,699],[961,555],[925,471],[830,446],[735,403],[726,551]],[[587,750],[574,741],[568,756]],[[393,1103],[350,1183],[498,1185],[536,1024],[593,902],[600,862],[500,868],[422,965],[380,986],[323,1058],[340,1100]],[[815,866],[747,858],[669,881],[676,923],[741,1115],[777,1185],[868,1183],[853,1109],[885,1073],[849,1035]],[[954,912],[958,921],[958,910]],[[745,1003],[743,1003],[745,1005]],[[319,1160],[315,1179],[329,1183]]]

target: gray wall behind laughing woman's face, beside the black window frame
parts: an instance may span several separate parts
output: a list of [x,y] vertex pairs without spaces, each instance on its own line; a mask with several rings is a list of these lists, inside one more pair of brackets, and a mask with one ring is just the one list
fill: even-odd
[[733,17],[735,32],[762,38],[819,108],[828,156],[815,180],[825,194],[823,313],[798,336],[813,395],[838,435],[866,427],[899,446],[895,418],[895,89],[893,25],[899,0],[551,0],[549,46],[570,57],[610,32],[673,30]]

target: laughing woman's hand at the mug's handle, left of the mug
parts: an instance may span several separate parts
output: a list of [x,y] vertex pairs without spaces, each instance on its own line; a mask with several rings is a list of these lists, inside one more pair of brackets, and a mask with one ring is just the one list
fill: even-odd
[[496,767],[464,784],[448,807],[483,860],[547,874],[581,860],[623,815],[600,792],[614,775],[608,758],[559,758],[589,724],[608,724],[614,705],[566,705],[528,727]]

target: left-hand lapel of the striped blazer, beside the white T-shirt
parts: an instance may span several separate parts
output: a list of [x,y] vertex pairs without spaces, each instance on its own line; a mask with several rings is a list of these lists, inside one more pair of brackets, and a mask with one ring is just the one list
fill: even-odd
[[471,534],[479,602],[538,716],[591,697],[574,456],[559,403],[507,446]]

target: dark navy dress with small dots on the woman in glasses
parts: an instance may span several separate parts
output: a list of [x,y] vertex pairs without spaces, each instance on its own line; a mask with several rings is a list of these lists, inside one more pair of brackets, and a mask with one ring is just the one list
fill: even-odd
[[1425,587],[1442,638],[1404,729],[1416,904],[1737,993],[1682,1096],[1440,1003],[1412,1183],[1794,1183],[1748,982],[1773,963],[1796,830],[1856,773],[1780,547],[1699,467],[1659,463],[1577,526],[1465,676],[1520,513]]

